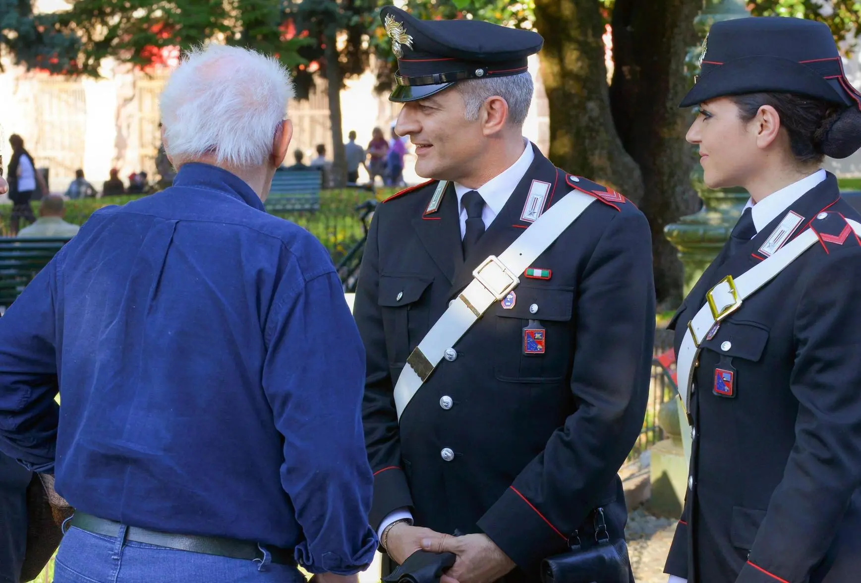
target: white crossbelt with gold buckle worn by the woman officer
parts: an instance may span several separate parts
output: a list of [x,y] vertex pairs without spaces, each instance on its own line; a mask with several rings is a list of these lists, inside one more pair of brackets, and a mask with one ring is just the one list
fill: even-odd
[[[847,219],[849,226],[861,237],[861,224]],[[720,326],[722,319],[741,307],[741,302],[753,295],[759,288],[771,282],[778,273],[800,257],[811,245],[819,240],[812,228],[798,235],[796,239],[781,247],[771,257],[765,258],[736,279],[727,276],[706,294],[706,304],[688,323],[682,345],[678,349],[676,367],[679,381],[678,396],[681,397],[684,411],[689,411],[691,389],[693,388],[695,363],[699,357],[703,341],[709,339],[712,328]],[[681,419],[679,419],[681,420]],[[690,416],[688,416],[690,422]]]

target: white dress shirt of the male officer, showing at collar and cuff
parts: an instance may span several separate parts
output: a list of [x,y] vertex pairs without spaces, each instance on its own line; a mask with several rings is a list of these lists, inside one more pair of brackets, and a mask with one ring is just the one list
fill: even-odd
[[[530,169],[532,161],[535,159],[535,152],[532,151],[532,145],[529,140],[523,140],[525,147],[517,162],[511,164],[505,171],[492,177],[486,183],[482,184],[477,189],[470,189],[463,184],[455,183],[455,193],[457,195],[457,208],[460,208],[461,218],[461,239],[467,233],[467,209],[463,207],[463,195],[470,190],[478,190],[481,198],[484,199],[485,206],[481,211],[481,220],[485,224],[485,228],[490,226],[496,215],[505,207],[505,203],[511,198],[511,193],[517,188],[517,184],[526,176],[526,171]],[[377,536],[382,538],[382,531],[386,530],[389,524],[395,520],[406,518],[412,524],[412,513],[407,508],[399,508],[393,510],[382,519],[380,528],[377,529]]]

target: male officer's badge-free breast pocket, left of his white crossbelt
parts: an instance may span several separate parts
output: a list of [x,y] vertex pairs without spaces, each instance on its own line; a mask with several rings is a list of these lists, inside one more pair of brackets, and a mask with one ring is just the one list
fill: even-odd
[[423,295],[432,280],[418,276],[380,276],[381,308],[389,363],[403,365],[430,326],[430,301]]

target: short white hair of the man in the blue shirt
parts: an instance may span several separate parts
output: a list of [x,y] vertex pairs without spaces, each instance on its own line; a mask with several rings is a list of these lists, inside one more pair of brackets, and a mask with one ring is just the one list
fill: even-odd
[[278,60],[241,47],[195,47],[161,95],[165,152],[177,166],[204,155],[237,168],[263,165],[292,96]]

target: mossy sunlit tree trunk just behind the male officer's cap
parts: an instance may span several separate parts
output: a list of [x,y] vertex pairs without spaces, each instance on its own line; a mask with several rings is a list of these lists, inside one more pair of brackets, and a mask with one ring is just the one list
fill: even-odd
[[640,202],[640,169],[625,152],[610,113],[600,3],[536,0],[535,4],[536,29],[544,37],[539,56],[550,109],[549,158],[568,172]]

